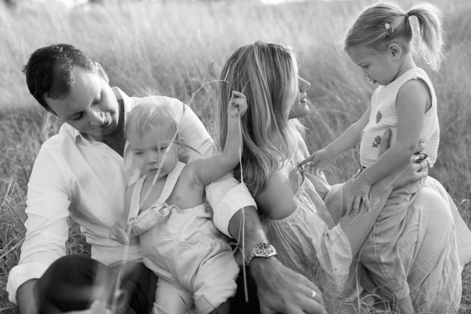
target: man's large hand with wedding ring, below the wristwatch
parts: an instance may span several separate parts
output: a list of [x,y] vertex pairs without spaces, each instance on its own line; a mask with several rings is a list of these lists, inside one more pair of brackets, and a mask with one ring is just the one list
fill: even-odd
[[[254,258],[251,271],[262,314],[327,314],[322,294],[305,276],[283,266],[275,257]],[[312,297],[312,291],[316,296]]]

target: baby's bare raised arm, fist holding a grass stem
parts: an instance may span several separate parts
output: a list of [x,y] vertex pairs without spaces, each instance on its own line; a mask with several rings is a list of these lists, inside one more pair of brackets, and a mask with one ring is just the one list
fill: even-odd
[[239,115],[247,111],[244,94],[233,91],[227,106],[227,137],[224,151],[209,158],[198,159],[191,165],[202,185],[218,180],[239,163],[239,147],[242,153],[243,142],[239,132]]

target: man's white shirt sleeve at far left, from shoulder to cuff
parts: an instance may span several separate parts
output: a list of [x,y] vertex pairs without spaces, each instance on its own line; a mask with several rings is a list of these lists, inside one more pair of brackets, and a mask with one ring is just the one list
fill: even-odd
[[70,201],[64,177],[53,155],[41,148],[28,183],[25,209],[26,236],[18,265],[8,275],[7,291],[16,303],[16,290],[26,281],[40,278],[48,267],[65,255]]

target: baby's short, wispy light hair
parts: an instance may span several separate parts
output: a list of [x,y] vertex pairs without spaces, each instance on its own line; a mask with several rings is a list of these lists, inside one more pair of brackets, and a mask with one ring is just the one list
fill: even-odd
[[128,113],[124,123],[124,134],[126,138],[129,138],[131,133],[142,137],[145,132],[157,125],[164,125],[173,132],[178,130],[178,121],[170,105],[147,101],[132,108]]

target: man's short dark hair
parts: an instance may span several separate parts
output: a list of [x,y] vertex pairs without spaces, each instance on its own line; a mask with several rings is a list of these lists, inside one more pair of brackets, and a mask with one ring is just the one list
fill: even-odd
[[44,97],[65,99],[75,81],[76,66],[90,73],[98,73],[95,64],[72,45],[56,44],[34,51],[23,67],[31,95],[51,111]]

